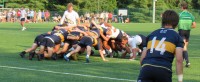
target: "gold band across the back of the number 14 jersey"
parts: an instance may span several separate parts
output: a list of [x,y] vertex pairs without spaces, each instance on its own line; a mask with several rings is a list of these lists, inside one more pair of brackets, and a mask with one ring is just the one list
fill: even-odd
[[[153,47],[154,49],[158,46],[159,42],[160,40],[155,41],[155,44]],[[163,44],[165,44],[165,51],[168,51],[170,53],[175,53],[176,46],[173,43],[164,41]],[[152,41],[148,41],[147,49],[151,49],[151,45],[152,45]],[[161,48],[161,46],[159,46],[159,48]]]

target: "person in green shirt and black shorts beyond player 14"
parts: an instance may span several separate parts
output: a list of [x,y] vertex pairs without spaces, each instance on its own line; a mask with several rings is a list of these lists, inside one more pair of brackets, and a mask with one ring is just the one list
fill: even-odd
[[189,37],[190,37],[190,30],[191,27],[195,28],[196,27],[196,22],[194,21],[194,16],[189,13],[187,11],[187,3],[183,2],[181,4],[181,9],[183,10],[180,14],[180,22],[178,25],[178,31],[179,31],[179,35],[183,38],[184,40],[184,50],[183,50],[183,58],[186,61],[186,67],[190,66],[190,62],[188,59],[188,52],[187,52],[187,46],[188,46],[188,42],[189,42]]

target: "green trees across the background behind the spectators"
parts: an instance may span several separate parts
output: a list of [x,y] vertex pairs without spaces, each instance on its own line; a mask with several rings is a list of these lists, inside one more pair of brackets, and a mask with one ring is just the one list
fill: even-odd
[[[2,3],[3,0],[0,0]],[[154,0],[4,0],[6,8],[21,8],[22,6],[34,10],[50,10],[63,12],[68,3],[74,4],[74,10],[79,14],[113,12],[117,9],[128,9],[128,17],[134,22],[151,22]],[[180,10],[180,3],[186,1],[189,9],[195,9],[196,17],[200,15],[200,0],[157,0],[156,21],[160,21],[160,14],[166,9]],[[178,11],[179,12],[179,11]],[[200,17],[199,17],[200,18]],[[197,19],[197,18],[196,18]],[[199,20],[200,21],[200,20]]]

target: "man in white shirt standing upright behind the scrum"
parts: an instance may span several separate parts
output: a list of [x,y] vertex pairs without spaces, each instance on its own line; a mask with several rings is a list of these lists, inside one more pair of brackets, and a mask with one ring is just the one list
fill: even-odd
[[[78,23],[76,23],[76,21]],[[67,10],[64,12],[63,17],[60,21],[60,25],[67,23],[68,25],[80,24],[79,15],[76,11],[73,10],[73,4],[68,3]]]

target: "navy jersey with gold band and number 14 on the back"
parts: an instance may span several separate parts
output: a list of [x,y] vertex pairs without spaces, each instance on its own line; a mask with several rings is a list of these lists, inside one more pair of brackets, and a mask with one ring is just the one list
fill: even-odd
[[147,36],[147,54],[142,66],[150,65],[171,71],[177,47],[183,48],[183,39],[174,29],[160,28]]

